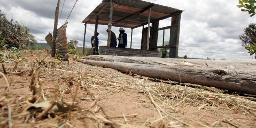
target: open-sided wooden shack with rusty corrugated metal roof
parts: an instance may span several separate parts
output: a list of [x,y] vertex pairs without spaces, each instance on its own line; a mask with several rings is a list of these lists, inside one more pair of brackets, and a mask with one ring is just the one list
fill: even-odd
[[[94,37],[96,37],[97,34],[98,24],[108,25],[107,47],[110,47],[112,26],[131,28],[131,32],[133,32],[134,28],[142,26],[141,51],[132,49],[131,34],[130,49],[126,48],[125,52],[122,52],[121,50],[124,49],[100,47],[101,54],[113,55],[114,53],[117,56],[140,56],[142,54],[137,54],[137,52],[144,52],[143,56],[154,55],[155,57],[155,55],[158,54],[157,57],[161,57],[161,55],[159,55],[161,51],[157,51],[157,49],[169,48],[169,58],[178,58],[181,13],[182,10],[142,0],[103,0],[100,5],[82,21],[82,23],[85,23],[83,49],[85,48],[87,24],[95,24]],[[159,21],[169,17],[171,17],[170,26],[159,28]],[[147,25],[147,27],[144,28],[145,25]],[[163,33],[163,38],[158,38],[159,31]],[[164,44],[165,33],[169,33],[167,36],[169,40],[167,44]],[[163,43],[161,39],[163,39]],[[92,51],[94,54],[94,48]],[[118,51],[120,51],[120,53]]]

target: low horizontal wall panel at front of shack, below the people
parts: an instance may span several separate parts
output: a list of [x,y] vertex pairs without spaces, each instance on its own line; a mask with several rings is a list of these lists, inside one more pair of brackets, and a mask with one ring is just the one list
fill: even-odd
[[101,55],[113,56],[143,56],[143,57],[161,57],[161,51],[149,51],[130,48],[113,48],[106,46],[99,46]]

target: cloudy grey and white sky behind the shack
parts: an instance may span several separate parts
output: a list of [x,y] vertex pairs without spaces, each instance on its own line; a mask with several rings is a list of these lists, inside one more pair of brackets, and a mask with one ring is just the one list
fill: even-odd
[[[61,0],[61,7],[64,0]],[[76,0],[65,0],[59,26],[63,24]],[[74,8],[67,28],[68,40],[76,39],[82,46],[84,24],[82,20],[102,0],[79,0]],[[236,7],[238,0],[144,0],[184,10],[181,18],[179,56],[211,59],[252,59],[241,46],[239,35],[249,23],[256,22],[256,16],[249,17]],[[45,36],[53,31],[57,0],[0,0],[0,10],[27,26],[38,42],[46,42]],[[60,9],[61,11],[61,9]],[[171,19],[160,21],[160,27],[170,25]],[[106,46],[107,26],[98,26],[101,34],[100,46]],[[130,28],[126,28],[130,46]],[[117,34],[118,28],[113,27]],[[132,48],[140,48],[142,27],[133,31]],[[86,45],[90,46],[94,25],[87,25]]]

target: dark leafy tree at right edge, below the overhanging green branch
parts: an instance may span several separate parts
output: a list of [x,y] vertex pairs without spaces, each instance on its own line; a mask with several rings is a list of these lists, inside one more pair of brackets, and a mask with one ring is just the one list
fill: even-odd
[[[254,54],[254,43],[256,43],[256,24],[249,24],[244,30],[244,34],[240,35],[239,38],[242,40],[242,46],[249,50],[251,54]],[[254,42],[254,43],[253,43]],[[250,48],[252,47],[252,48]],[[256,59],[256,56],[255,56]]]

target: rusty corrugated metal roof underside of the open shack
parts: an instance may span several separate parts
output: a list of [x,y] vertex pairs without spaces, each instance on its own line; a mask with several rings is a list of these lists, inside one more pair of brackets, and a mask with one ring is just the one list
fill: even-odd
[[[83,23],[87,24],[95,24],[95,20],[91,20],[93,16],[95,16],[108,2],[102,1],[100,5],[98,5],[83,21]],[[115,0],[114,4],[114,12],[112,24],[129,16],[135,14],[146,7],[152,5],[153,3],[145,2],[142,0]],[[159,4],[154,4],[151,12],[151,21],[159,20],[162,18],[170,17],[171,14],[176,12],[182,12],[182,10],[174,9],[171,7],[166,7]],[[99,15],[99,24],[108,25],[110,13],[110,6],[107,7],[100,15]],[[91,20],[91,22],[89,22]],[[139,15],[134,17],[129,17],[117,24],[113,24],[112,26],[117,27],[125,27],[125,28],[133,28],[135,26],[139,26],[141,24],[145,24],[148,22],[148,11],[145,11]]]

